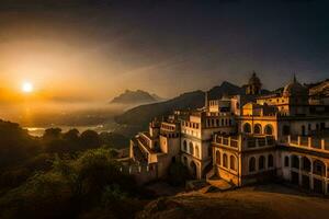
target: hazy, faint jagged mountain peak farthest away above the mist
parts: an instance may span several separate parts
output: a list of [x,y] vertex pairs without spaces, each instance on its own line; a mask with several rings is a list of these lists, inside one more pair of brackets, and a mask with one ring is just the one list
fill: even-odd
[[131,91],[126,90],[124,93],[114,97],[110,103],[118,104],[143,104],[143,103],[155,103],[162,100],[157,94],[149,94],[146,91],[137,90]]

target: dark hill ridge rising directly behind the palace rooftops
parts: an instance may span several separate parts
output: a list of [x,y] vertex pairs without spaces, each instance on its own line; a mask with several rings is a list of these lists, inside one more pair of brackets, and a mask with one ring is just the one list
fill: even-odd
[[[222,97],[224,94],[241,94],[245,90],[238,85],[224,81],[220,85],[208,91],[209,99]],[[169,101],[146,104],[134,107],[117,116],[118,124],[146,126],[154,117],[171,114],[174,110],[197,108],[204,106],[205,94],[203,91],[193,91],[181,94]]]

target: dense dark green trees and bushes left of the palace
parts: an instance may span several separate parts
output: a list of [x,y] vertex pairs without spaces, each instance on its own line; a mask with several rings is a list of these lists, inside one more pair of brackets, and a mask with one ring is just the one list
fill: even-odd
[[36,138],[0,120],[0,218],[132,218],[146,192],[120,171],[112,137],[50,128]]

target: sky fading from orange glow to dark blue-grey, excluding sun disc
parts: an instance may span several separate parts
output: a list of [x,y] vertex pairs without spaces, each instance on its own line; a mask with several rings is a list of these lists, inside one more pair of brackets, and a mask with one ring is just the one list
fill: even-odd
[[[0,103],[329,78],[324,0],[0,0]],[[22,94],[24,81],[34,94]],[[33,97],[34,96],[34,97]]]

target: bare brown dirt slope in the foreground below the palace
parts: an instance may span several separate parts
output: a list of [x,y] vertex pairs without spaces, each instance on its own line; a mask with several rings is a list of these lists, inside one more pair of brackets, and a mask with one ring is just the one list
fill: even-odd
[[329,199],[276,184],[228,192],[197,191],[159,198],[137,218],[327,219]]

